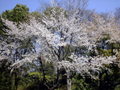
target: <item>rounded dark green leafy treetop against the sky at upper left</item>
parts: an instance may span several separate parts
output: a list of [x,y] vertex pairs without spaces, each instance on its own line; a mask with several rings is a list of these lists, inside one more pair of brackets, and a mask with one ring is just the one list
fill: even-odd
[[27,22],[29,20],[29,8],[26,5],[17,4],[11,11],[2,12],[2,17],[13,22]]

